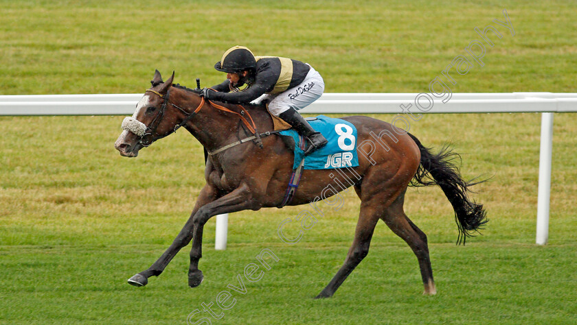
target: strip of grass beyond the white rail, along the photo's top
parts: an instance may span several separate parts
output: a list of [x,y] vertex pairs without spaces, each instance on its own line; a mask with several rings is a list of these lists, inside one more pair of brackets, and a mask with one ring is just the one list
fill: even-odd
[[[193,85],[231,45],[310,62],[327,92],[420,92],[488,32],[453,92],[575,91],[572,1],[0,1],[3,95],[140,93],[155,68]],[[505,27],[506,9],[514,27]],[[306,23],[304,23],[306,22]]]

